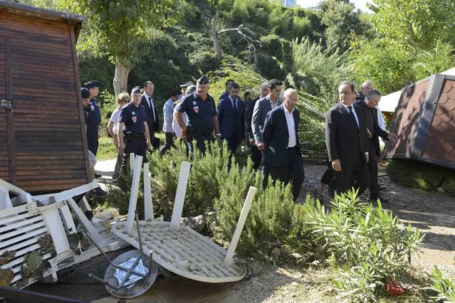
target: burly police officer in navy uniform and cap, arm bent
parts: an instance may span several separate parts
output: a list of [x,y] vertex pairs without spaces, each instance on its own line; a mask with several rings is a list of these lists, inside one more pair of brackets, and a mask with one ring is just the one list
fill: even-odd
[[[174,119],[182,128],[182,139],[187,141],[189,152],[193,158],[193,140],[196,147],[202,154],[206,149],[206,144],[214,141],[215,131],[216,141],[220,141],[219,123],[216,118],[216,107],[214,99],[209,95],[209,78],[203,75],[196,83],[196,92],[193,92],[182,99],[177,105]],[[188,126],[185,125],[182,114],[188,115]]]

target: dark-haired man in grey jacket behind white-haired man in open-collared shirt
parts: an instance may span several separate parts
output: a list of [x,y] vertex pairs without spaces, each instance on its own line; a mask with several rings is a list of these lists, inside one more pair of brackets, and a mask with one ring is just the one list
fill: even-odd
[[[262,153],[262,159],[264,157],[264,150],[266,149],[266,146],[262,139],[264,122],[266,121],[268,112],[280,105],[278,104],[278,98],[281,94],[281,85],[283,85],[283,83],[280,80],[272,79],[268,81],[268,95],[262,99],[259,99],[254,105],[253,116],[251,117],[251,129],[253,130],[253,137],[254,142],[256,143],[256,147]],[[264,164],[264,161],[262,162],[264,174],[264,181],[262,186],[263,188],[266,188],[268,175],[271,172],[271,167]]]

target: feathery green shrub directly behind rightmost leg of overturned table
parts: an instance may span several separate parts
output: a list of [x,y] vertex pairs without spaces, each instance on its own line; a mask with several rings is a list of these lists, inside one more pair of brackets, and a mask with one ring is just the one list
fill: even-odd
[[251,161],[239,172],[232,169],[215,203],[214,235],[228,242],[234,234],[249,187],[257,188],[236,250],[240,255],[257,255],[270,245],[281,246],[293,229],[296,205],[291,187],[279,182],[273,184],[270,179],[270,185],[262,191],[262,179],[260,173],[251,170]]

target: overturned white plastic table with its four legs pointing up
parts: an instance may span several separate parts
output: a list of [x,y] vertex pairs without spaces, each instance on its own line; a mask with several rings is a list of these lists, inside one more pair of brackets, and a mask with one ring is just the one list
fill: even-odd
[[[119,238],[139,249],[137,228],[134,226],[137,192],[140,184],[142,156],[134,161],[130,205],[126,222],[115,223],[112,231]],[[165,269],[201,282],[234,282],[246,275],[246,267],[234,257],[241,230],[244,227],[256,188],[250,187],[241,211],[229,250],[224,250],[209,238],[180,225],[184,197],[187,190],[190,163],[183,161],[171,222],[153,220],[152,195],[148,164],[144,164],[145,220],[140,221],[143,252]],[[133,163],[132,163],[133,166]]]

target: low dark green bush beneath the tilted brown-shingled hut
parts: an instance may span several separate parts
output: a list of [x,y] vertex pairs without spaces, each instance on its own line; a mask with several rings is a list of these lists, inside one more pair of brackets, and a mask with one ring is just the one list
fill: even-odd
[[450,190],[455,179],[453,169],[406,159],[390,161],[386,171],[395,183],[425,191],[434,191],[443,184],[444,188]]

